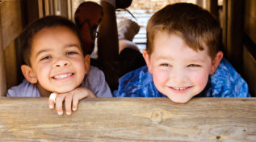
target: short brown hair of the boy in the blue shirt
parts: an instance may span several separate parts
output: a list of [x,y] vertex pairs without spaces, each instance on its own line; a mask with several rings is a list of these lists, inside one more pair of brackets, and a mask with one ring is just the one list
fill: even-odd
[[203,51],[214,59],[220,51],[220,22],[201,7],[191,3],[175,3],[158,10],[147,25],[147,47],[153,52],[153,40],[159,32],[178,34],[194,51]]

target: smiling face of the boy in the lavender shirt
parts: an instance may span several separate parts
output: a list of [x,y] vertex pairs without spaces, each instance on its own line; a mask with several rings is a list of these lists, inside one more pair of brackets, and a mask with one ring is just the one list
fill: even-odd
[[64,93],[78,87],[87,71],[78,36],[65,26],[40,30],[31,44],[31,75],[47,91]]

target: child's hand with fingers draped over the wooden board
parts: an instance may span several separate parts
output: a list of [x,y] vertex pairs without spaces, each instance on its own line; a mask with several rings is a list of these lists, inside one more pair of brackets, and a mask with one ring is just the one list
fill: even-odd
[[72,110],[76,111],[78,108],[78,101],[80,99],[86,98],[86,97],[96,97],[94,93],[92,93],[90,90],[86,89],[85,87],[77,87],[73,91],[69,91],[68,93],[64,94],[57,94],[52,93],[48,100],[48,105],[50,109],[54,108],[54,103],[56,103],[56,110],[58,115],[63,114],[62,110],[62,103],[65,100],[65,113],[67,115],[71,115],[71,105]]

